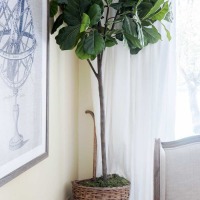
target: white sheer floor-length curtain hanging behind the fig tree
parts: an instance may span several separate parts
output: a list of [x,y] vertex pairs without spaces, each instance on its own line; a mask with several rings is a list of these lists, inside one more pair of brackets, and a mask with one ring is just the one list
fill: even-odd
[[[154,139],[174,138],[174,24],[169,29],[173,36],[170,43],[162,30],[163,41],[146,47],[138,55],[131,56],[124,44],[107,49],[104,55],[108,172],[131,180],[131,200],[153,199]],[[100,147],[97,81],[91,76]],[[98,149],[98,175],[100,153]]]

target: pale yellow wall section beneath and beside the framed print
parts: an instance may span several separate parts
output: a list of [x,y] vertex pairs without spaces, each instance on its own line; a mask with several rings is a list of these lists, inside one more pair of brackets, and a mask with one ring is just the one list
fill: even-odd
[[49,157],[0,188],[0,200],[64,200],[78,176],[78,60],[50,42]]

